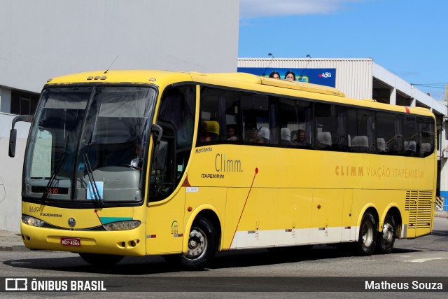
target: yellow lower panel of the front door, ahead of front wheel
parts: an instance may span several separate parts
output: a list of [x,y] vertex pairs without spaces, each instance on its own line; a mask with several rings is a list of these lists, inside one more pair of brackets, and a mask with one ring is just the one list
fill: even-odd
[[150,204],[146,218],[146,252],[148,255],[181,253],[186,188],[180,188],[171,199]]

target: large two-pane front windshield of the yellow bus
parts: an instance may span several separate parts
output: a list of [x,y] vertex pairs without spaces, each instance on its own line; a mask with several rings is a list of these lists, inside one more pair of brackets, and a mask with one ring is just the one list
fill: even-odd
[[29,136],[23,196],[46,201],[142,201],[142,166],[156,90],[46,88]]

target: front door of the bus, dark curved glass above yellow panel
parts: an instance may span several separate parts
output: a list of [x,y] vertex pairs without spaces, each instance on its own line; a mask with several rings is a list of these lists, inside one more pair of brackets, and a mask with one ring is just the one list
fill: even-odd
[[[195,86],[181,85],[165,90],[156,123],[162,135],[160,142],[153,136],[149,174],[148,254],[182,251],[183,237],[186,236],[183,232],[186,188],[181,185],[193,144],[194,111]],[[162,152],[166,155],[161,155]]]

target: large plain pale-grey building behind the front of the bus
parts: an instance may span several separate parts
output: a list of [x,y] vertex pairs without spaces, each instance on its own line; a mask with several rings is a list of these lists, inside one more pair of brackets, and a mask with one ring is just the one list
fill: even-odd
[[236,71],[239,1],[0,0],[0,230],[18,231],[22,160],[33,113],[52,77],[97,69]]

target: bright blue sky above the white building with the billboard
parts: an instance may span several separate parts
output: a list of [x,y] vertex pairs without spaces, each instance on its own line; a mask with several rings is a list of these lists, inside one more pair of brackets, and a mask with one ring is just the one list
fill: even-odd
[[437,99],[448,83],[447,0],[240,0],[238,57],[368,58]]

